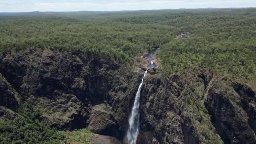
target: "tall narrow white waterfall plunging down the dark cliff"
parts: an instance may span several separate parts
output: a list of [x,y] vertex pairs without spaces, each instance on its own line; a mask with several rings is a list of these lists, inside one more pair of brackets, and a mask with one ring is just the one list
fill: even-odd
[[[144,73],[144,77],[147,74],[147,70]],[[142,78],[141,84],[139,85],[138,91],[134,99],[133,109],[129,117],[129,129],[126,136],[129,144],[136,144],[137,136],[139,134],[139,98],[144,77]]]

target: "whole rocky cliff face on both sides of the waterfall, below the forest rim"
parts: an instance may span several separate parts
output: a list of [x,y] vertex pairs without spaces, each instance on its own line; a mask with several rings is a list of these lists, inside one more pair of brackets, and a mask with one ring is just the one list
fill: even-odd
[[[86,127],[119,141],[143,76],[93,53],[47,48],[0,56],[0,73],[0,116],[21,99],[52,127]],[[206,69],[168,79],[147,75],[140,114],[140,144],[256,143],[255,92]]]

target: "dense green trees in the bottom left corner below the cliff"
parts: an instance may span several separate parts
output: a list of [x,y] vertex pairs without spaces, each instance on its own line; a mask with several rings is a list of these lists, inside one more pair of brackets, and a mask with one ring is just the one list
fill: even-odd
[[40,112],[29,104],[19,107],[20,117],[0,119],[0,142],[4,144],[59,144],[64,136],[42,123]]

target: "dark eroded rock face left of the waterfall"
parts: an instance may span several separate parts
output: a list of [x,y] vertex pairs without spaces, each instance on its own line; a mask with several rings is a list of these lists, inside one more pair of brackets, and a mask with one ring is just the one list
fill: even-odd
[[[105,116],[115,121],[117,132],[103,132],[113,130],[110,123],[96,132],[120,139],[128,126],[129,107],[143,74],[129,72],[93,53],[49,48],[30,48],[1,56],[0,72],[24,101],[41,110],[46,124],[59,129],[88,127],[89,122],[96,120],[93,115],[106,114],[93,111],[93,107],[107,101],[113,113]],[[2,87],[4,93],[9,93],[4,83]],[[3,106],[15,103],[10,100],[11,93],[5,96],[8,99]]]

